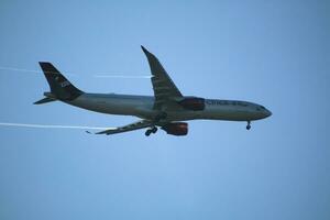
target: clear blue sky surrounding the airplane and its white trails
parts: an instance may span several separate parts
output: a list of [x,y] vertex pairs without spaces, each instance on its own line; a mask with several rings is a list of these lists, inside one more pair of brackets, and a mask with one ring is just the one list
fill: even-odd
[[[0,2],[0,66],[52,62],[80,89],[152,95],[140,45],[185,95],[264,105],[189,135],[0,128],[0,219],[330,219],[330,3]],[[68,73],[76,74],[75,76]],[[0,70],[0,122],[116,127],[133,117],[32,103],[42,74]]]

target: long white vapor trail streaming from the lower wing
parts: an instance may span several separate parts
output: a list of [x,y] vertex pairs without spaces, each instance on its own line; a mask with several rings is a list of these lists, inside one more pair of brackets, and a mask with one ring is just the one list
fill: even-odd
[[0,122],[0,127],[19,127],[19,128],[32,128],[32,129],[80,129],[80,130],[107,130],[107,129],[114,129],[114,128],[106,128],[106,127],[28,124],[28,123],[9,123],[9,122]]

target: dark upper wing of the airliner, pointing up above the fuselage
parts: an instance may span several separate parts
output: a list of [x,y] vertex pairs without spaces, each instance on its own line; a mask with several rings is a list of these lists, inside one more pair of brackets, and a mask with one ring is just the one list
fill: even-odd
[[155,95],[154,109],[161,109],[164,105],[170,105],[170,102],[173,102],[172,100],[175,98],[183,97],[182,92],[169,78],[157,57],[143,46],[141,47],[146,55],[152,73],[152,84]]

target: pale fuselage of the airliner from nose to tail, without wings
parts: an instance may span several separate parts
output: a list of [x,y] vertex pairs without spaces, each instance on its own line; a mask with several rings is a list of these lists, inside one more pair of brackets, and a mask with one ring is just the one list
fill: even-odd
[[[82,94],[75,100],[65,102],[96,112],[135,116],[148,120],[160,114],[160,110],[154,109],[154,97],[150,96]],[[166,111],[167,114],[165,122],[194,119],[253,121],[272,114],[271,111],[256,103],[217,99],[206,99],[205,109],[201,111],[184,108],[165,109],[163,111]]]

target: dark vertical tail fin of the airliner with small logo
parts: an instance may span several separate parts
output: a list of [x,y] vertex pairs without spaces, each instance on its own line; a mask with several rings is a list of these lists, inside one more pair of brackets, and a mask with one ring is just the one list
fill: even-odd
[[81,94],[69,80],[67,80],[51,63],[38,63],[50,84],[51,94],[55,99],[74,100]]

